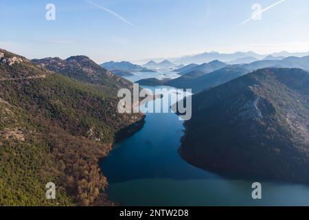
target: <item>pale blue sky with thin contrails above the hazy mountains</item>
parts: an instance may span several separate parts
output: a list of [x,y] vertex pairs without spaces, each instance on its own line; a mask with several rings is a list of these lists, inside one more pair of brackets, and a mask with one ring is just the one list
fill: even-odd
[[[103,63],[309,51],[308,0],[1,1],[0,47],[27,58],[86,55]],[[46,19],[48,3],[56,20]]]

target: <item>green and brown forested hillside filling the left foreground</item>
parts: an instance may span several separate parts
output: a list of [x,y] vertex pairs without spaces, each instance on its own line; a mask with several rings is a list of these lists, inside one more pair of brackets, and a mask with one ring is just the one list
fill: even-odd
[[[111,94],[122,78],[91,70],[91,77],[110,79],[104,89],[114,91],[105,94],[101,86],[50,72],[5,50],[0,56],[0,205],[111,204],[98,161],[111,151],[118,131],[144,118],[117,113],[118,99]],[[77,66],[70,68],[84,68]],[[45,199],[49,181],[56,184],[55,201]]]

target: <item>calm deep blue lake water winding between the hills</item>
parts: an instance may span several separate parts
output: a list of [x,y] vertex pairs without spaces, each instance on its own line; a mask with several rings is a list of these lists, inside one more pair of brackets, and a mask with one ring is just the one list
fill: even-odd
[[[128,79],[176,77],[142,74]],[[110,199],[124,206],[309,206],[309,186],[260,181],[262,200],[253,200],[259,179],[228,179],[187,164],[177,152],[183,129],[174,113],[149,113],[141,131],[115,144],[102,161]]]

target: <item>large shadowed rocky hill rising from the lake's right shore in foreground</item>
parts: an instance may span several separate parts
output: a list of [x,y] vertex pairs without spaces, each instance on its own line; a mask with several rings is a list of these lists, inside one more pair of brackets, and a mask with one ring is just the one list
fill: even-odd
[[190,164],[309,183],[308,72],[259,69],[194,95],[192,109],[179,151]]

